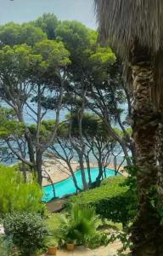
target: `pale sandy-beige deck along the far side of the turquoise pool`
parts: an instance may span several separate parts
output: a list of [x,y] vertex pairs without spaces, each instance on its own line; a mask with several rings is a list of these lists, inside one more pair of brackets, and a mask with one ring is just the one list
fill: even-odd
[[[80,166],[77,162],[73,161],[71,163],[72,169],[74,172],[76,172],[76,170],[80,169]],[[85,168],[87,168],[87,166],[84,166]],[[90,164],[90,167],[97,167],[97,163]],[[108,166],[108,168],[110,169],[114,169],[114,166]],[[123,168],[121,167],[121,170]],[[48,181],[48,178],[44,178],[44,177],[48,177],[48,175],[50,176],[51,180],[53,183],[59,183],[60,181],[65,180],[66,178],[70,177],[70,171],[67,168],[65,161],[63,160],[47,160],[43,162],[43,170],[45,170],[46,172],[42,171],[42,186],[47,186],[49,184],[51,184]],[[121,172],[120,170],[120,172]],[[48,173],[48,175],[47,175]],[[123,175],[126,176],[125,172],[123,172]]]

